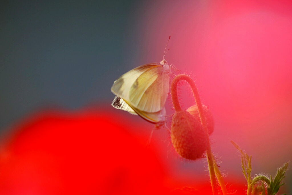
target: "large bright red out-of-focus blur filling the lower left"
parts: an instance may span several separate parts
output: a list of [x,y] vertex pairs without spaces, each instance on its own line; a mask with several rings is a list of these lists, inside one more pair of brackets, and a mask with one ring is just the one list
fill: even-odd
[[[162,157],[168,143],[146,147],[148,133],[137,132],[148,127],[106,109],[34,113],[2,144],[0,194],[211,194],[206,175],[175,177]],[[244,191],[232,183],[230,191]]]

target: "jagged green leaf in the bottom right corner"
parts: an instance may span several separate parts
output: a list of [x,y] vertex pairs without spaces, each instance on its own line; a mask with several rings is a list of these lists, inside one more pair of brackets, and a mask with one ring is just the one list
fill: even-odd
[[267,195],[275,195],[279,191],[280,186],[284,185],[284,183],[283,184],[280,184],[280,183],[285,178],[284,175],[285,175],[285,172],[287,171],[287,168],[288,168],[288,163],[285,163],[281,168],[277,170],[277,174],[274,177],[274,180],[272,179],[272,176],[271,176],[271,182],[270,182],[269,187],[267,188]]

